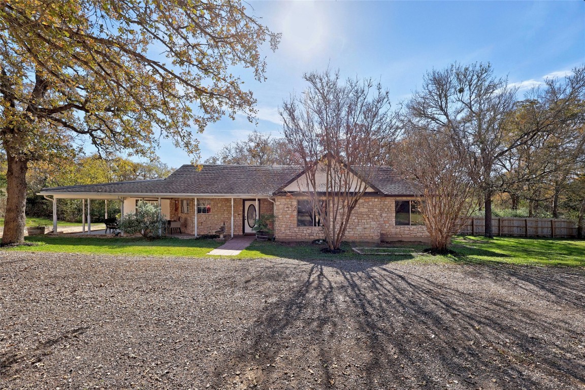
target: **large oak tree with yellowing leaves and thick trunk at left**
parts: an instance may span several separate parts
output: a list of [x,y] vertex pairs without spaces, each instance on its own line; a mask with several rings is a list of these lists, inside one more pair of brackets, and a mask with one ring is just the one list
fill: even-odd
[[191,126],[254,98],[232,72],[263,80],[277,34],[239,1],[0,2],[0,140],[8,164],[2,244],[23,241],[26,171],[75,143],[150,157],[160,139],[197,153]]

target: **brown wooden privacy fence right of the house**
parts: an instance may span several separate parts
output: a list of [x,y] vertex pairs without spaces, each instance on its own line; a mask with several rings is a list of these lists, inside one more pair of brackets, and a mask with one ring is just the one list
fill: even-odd
[[[486,232],[484,222],[483,217],[470,218],[459,233],[481,236]],[[577,237],[577,223],[569,219],[496,217],[491,228],[494,236]]]

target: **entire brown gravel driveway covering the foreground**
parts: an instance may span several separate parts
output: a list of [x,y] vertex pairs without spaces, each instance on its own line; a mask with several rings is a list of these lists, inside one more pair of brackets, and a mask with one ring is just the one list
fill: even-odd
[[2,389],[585,389],[583,269],[0,251],[0,275]]

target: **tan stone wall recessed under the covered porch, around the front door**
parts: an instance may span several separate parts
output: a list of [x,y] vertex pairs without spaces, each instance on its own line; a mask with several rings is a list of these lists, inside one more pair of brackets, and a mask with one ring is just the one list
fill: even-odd
[[[181,212],[181,201],[188,200],[189,212]],[[197,215],[197,234],[214,234],[216,230],[225,222],[226,234],[231,233],[232,229],[232,199],[230,198],[199,198],[205,199],[211,205],[211,213]],[[259,199],[260,213],[274,213],[273,203],[268,199]],[[233,234],[242,234],[242,199],[233,199]],[[194,198],[173,198],[170,200],[170,218],[181,221],[181,231],[183,233],[194,234],[195,212],[197,207]]]

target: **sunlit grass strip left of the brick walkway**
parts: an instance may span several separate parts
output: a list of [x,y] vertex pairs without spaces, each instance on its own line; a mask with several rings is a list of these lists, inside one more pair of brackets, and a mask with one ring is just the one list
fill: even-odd
[[19,246],[6,250],[27,252],[61,252],[84,254],[204,257],[222,243],[215,240],[180,240],[163,238],[146,241],[141,237],[25,237],[36,246]]

